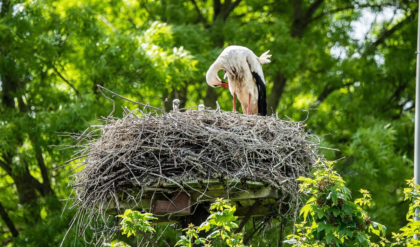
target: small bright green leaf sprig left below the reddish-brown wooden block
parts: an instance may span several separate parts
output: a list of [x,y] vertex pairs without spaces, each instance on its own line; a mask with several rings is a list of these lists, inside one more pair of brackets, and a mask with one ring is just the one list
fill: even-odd
[[150,226],[150,221],[156,218],[151,213],[140,213],[127,209],[124,215],[120,214],[118,217],[122,218],[120,223],[121,230],[123,230],[123,234],[127,234],[127,237],[136,235],[137,231],[155,232],[155,229]]

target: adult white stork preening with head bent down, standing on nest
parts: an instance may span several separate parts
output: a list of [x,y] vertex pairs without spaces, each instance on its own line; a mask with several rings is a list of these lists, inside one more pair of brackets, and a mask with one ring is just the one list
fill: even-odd
[[[207,71],[207,84],[214,88],[219,86],[229,88],[234,96],[234,111],[236,111],[237,95],[244,114],[266,116],[265,81],[261,64],[270,62],[269,51],[257,57],[247,47],[237,45],[226,47]],[[220,80],[217,75],[222,69],[225,71],[224,78],[228,79],[228,83]]]

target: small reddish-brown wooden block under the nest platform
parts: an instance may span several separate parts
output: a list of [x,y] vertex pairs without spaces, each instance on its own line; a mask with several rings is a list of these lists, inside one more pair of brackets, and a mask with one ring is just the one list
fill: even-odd
[[153,203],[154,215],[188,215],[191,213],[191,198],[186,192],[175,193],[172,200],[156,200]]

